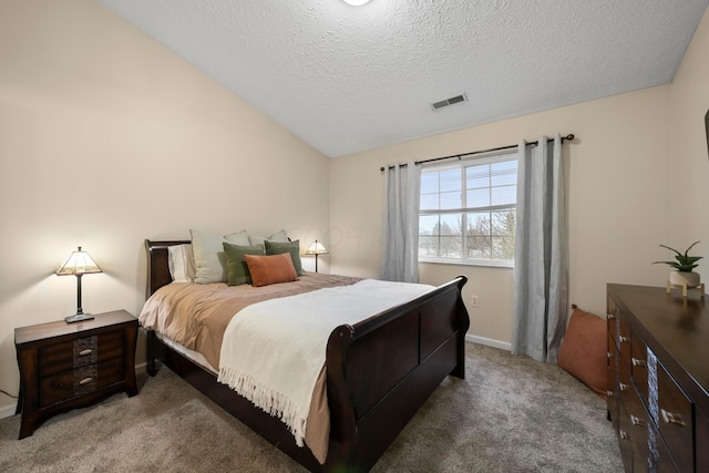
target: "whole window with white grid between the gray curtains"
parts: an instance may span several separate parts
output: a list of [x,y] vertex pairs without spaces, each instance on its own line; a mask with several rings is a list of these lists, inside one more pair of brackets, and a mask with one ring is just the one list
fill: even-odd
[[419,260],[514,264],[517,153],[421,171]]

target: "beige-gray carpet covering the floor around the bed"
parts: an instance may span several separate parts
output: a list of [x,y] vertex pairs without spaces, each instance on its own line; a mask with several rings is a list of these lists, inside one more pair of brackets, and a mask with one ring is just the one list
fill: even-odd
[[[467,343],[373,472],[621,472],[605,402],[556,366]],[[166,368],[141,392],[47,421],[17,440],[0,420],[0,472],[301,472]]]

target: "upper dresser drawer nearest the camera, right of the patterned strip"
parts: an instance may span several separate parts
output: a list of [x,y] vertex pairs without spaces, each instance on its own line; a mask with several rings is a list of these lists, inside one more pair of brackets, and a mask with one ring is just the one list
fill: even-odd
[[657,423],[667,450],[682,472],[693,462],[693,407],[661,362],[657,362]]

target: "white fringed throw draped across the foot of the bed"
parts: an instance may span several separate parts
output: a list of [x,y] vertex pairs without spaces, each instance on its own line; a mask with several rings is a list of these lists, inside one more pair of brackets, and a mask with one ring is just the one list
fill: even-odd
[[332,330],[432,289],[364,279],[248,306],[224,333],[218,380],[280,418],[302,446],[314,387]]

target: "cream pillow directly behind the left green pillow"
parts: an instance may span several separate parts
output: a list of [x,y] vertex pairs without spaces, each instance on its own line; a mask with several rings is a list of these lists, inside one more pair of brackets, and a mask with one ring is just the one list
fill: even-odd
[[192,253],[195,258],[195,282],[226,282],[224,241],[248,246],[249,240],[246,232],[223,237],[199,230],[189,230],[189,234],[192,235]]

